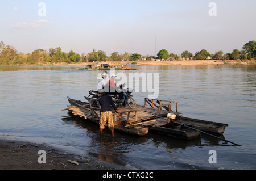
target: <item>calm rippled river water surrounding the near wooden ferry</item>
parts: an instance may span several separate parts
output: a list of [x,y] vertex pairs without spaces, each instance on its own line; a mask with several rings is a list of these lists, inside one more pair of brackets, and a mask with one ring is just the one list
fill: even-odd
[[[255,65],[179,65],[125,71],[158,74],[158,99],[180,102],[178,111],[185,117],[229,124],[224,138],[241,146],[204,134],[185,141],[117,131],[112,138],[105,130],[101,138],[98,125],[61,111],[69,104],[68,96],[85,100],[98,82],[100,71],[71,66],[0,67],[0,135],[53,145],[127,169],[256,169],[255,70]],[[143,105],[150,94],[133,95]],[[209,163],[210,150],[216,151],[217,163]]]

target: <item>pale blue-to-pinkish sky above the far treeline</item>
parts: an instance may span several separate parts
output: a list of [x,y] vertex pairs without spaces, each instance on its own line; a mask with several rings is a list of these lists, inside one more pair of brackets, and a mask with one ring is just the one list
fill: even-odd
[[154,55],[156,39],[156,54],[213,54],[256,40],[255,0],[0,0],[0,17],[0,41],[22,53],[61,47],[79,54],[96,49],[110,56],[113,49]]

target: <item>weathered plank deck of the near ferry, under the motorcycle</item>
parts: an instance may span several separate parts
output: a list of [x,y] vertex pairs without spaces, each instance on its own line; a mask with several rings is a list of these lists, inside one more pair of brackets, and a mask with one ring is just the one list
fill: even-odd
[[[71,111],[73,115],[83,117],[85,120],[90,120],[94,123],[100,122],[100,108],[90,107],[89,103],[80,100],[68,98],[68,101],[71,104],[65,110]],[[156,104],[154,105],[156,106]],[[114,110],[112,111],[115,129],[129,134],[143,136],[148,133],[148,127],[142,124],[153,123],[156,121],[156,117],[167,116],[168,113],[172,112],[170,106],[171,103],[168,106],[168,111],[162,110],[163,106],[149,108],[144,105],[137,106],[134,110],[129,107],[118,107],[120,113]]]

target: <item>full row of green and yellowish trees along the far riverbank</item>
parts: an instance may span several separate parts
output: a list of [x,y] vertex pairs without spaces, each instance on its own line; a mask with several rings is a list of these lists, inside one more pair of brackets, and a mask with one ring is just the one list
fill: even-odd
[[234,49],[232,53],[224,54],[222,51],[218,51],[215,54],[210,54],[207,50],[202,49],[200,52],[196,52],[193,55],[187,50],[180,56],[174,53],[168,53],[166,49],[162,49],[158,52],[158,57],[146,55],[142,56],[138,53],[123,53],[113,52],[110,56],[106,56],[106,53],[102,50],[96,51],[93,49],[88,54],[73,52],[70,50],[68,53],[63,52],[60,47],[50,48],[48,51],[44,49],[36,49],[32,53],[23,54],[18,52],[13,46],[5,45],[3,41],[0,42],[0,65],[40,65],[40,64],[55,64],[55,63],[77,63],[77,62],[96,62],[96,61],[121,61],[125,60],[152,60],[152,59],[164,59],[164,60],[205,60],[207,57],[216,60],[237,60],[237,59],[256,59],[256,41],[249,41],[243,45],[242,50]]

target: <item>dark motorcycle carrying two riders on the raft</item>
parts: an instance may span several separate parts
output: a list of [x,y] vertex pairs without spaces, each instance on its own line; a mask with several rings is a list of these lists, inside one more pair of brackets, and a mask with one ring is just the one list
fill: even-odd
[[[124,87],[125,84],[123,84],[121,87]],[[123,96],[120,99],[120,102],[118,102],[118,98],[115,97],[115,95],[112,95],[111,93],[106,93],[109,94],[114,101],[115,105],[117,107],[122,107],[122,106],[129,106],[131,109],[134,109],[136,107],[136,102],[134,100],[133,95],[131,93],[133,92],[132,89],[127,88],[125,91],[123,91]],[[91,96],[91,97],[90,97]],[[85,97],[89,101],[89,106],[90,107],[100,107],[100,103],[98,102],[98,99],[100,98],[101,93],[99,91],[89,91],[89,96]]]

